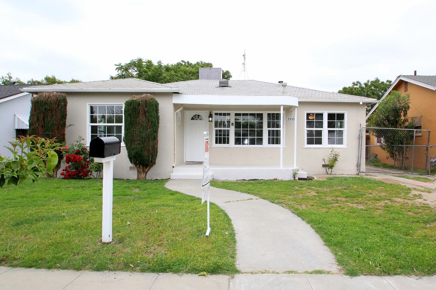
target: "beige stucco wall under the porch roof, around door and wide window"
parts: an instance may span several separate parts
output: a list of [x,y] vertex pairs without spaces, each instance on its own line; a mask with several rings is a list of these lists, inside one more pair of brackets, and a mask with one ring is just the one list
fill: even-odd
[[[174,105],[174,110],[181,108]],[[284,106],[285,117],[294,117],[294,107]],[[280,111],[280,106],[225,106],[225,105],[184,105],[181,110],[181,123],[176,122],[176,165],[184,164],[185,157],[185,111]],[[266,121],[266,120],[264,120]],[[208,122],[210,138],[213,138],[213,122]],[[266,122],[264,124],[266,128]],[[283,166],[293,166],[294,122],[285,121],[285,147],[283,148]],[[211,142],[212,144],[212,142]],[[211,165],[276,165],[280,166],[279,147],[210,147]]]

